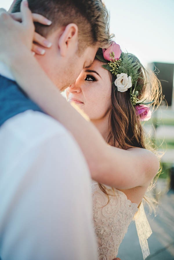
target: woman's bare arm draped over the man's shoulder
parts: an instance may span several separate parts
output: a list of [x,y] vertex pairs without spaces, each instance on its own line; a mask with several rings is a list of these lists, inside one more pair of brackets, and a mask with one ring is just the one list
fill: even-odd
[[24,45],[18,48],[18,52],[11,51],[6,59],[17,83],[73,134],[88,162],[92,178],[120,189],[146,185],[158,170],[155,155],[144,149],[125,151],[106,144],[94,125],[61,96],[30,51]]

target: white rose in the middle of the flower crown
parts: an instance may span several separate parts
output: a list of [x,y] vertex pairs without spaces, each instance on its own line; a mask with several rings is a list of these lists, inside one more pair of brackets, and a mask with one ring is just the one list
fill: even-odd
[[132,87],[131,76],[128,76],[126,73],[117,74],[117,79],[114,83],[120,92],[125,92]]

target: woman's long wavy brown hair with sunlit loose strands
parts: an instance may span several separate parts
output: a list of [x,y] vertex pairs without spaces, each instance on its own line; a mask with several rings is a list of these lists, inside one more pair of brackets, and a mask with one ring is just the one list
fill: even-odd
[[[157,109],[162,101],[162,87],[157,76],[150,69],[145,69],[140,63],[139,59],[133,54],[128,54],[133,59],[135,64],[140,64],[139,68],[140,77],[137,85],[141,86],[139,91],[139,100],[146,99],[146,102],[152,102],[151,110]],[[117,91],[115,88],[114,81],[116,77],[110,73],[110,79],[112,83],[111,91],[111,111],[109,115],[109,135],[107,143],[119,147],[121,149],[128,149],[131,147],[145,148],[153,151],[157,154],[153,144],[151,144],[150,137],[145,134],[139,117],[135,113],[135,107],[131,103],[130,89],[125,92]],[[160,160],[160,158],[159,158]],[[155,186],[157,177],[159,176],[160,170],[149,185],[148,190],[151,190]],[[107,195],[109,202],[109,190],[103,184],[99,184],[99,188]],[[114,189],[113,189],[114,191]],[[153,208],[153,202],[155,199],[144,196],[149,206]]]

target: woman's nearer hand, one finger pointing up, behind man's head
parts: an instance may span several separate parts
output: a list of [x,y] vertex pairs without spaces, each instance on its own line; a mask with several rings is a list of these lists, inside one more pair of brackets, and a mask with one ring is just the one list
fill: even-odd
[[0,9],[0,60],[10,65],[14,58],[31,52],[35,27],[28,2],[21,2],[22,22],[14,21],[10,14]]

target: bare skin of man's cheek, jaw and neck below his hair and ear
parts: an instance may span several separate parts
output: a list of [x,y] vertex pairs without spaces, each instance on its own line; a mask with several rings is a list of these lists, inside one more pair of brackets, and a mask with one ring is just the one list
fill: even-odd
[[67,56],[66,58],[62,58],[55,51],[57,46],[54,45],[56,45],[55,42],[53,42],[52,48],[46,50],[44,55],[36,54],[35,58],[57,88],[63,91],[76,81],[84,65],[88,66],[92,64],[98,45],[87,47],[80,56],[74,50],[74,55]]

